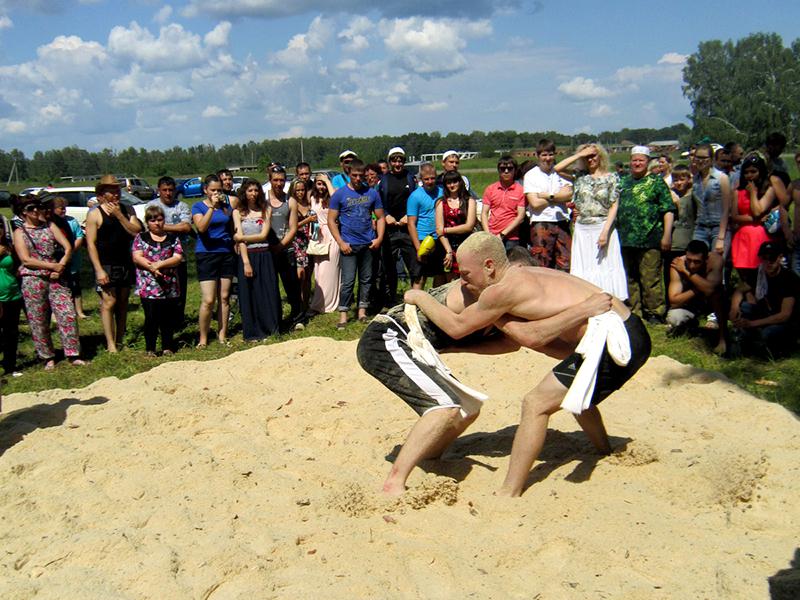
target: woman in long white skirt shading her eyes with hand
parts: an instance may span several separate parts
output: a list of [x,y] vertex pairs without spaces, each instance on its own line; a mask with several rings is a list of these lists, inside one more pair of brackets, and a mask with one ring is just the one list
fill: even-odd
[[628,281],[614,228],[619,176],[608,170],[608,153],[600,144],[584,144],[555,169],[562,176],[568,175],[568,170],[573,171],[572,201],[578,218],[572,234],[569,272],[626,300]]

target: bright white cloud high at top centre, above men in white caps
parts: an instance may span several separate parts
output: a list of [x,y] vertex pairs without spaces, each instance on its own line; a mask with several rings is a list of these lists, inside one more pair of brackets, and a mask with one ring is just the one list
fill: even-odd
[[384,19],[380,31],[393,60],[405,70],[423,77],[450,75],[464,70],[462,50],[468,38],[492,33],[488,20],[434,20],[420,17]]

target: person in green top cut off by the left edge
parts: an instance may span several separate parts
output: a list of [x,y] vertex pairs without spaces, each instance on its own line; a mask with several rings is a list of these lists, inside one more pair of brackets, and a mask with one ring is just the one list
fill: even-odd
[[3,349],[3,372],[18,377],[17,345],[19,343],[19,314],[22,311],[22,292],[17,280],[19,260],[10,239],[10,225],[0,218],[0,338]]

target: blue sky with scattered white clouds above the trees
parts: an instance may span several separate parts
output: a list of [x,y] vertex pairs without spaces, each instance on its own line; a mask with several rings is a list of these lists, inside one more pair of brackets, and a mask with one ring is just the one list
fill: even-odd
[[688,123],[681,70],[700,42],[797,36],[800,2],[755,7],[0,0],[0,148]]

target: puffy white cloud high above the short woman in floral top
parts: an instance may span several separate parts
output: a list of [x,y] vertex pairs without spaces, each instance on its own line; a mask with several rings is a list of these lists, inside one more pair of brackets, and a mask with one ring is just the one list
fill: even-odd
[[108,34],[108,51],[150,72],[198,67],[207,60],[200,36],[178,24],[162,27],[157,38],[136,21],[129,27],[117,25]]

